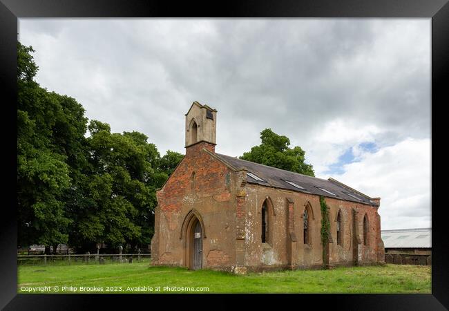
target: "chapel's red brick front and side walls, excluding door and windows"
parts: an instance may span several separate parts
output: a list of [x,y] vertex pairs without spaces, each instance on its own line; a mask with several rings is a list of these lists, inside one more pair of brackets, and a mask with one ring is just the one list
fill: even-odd
[[[242,180],[238,177],[241,172],[233,172],[203,148],[213,153],[215,146],[198,142],[188,147],[182,162],[162,189],[157,191],[158,207],[152,244],[155,264],[188,264],[186,237],[182,238],[181,229],[186,215],[191,209],[195,209],[202,217],[204,233],[207,234],[207,238],[202,241],[203,267],[321,265],[321,209],[318,196],[252,184],[242,185]],[[262,245],[260,208],[267,197],[276,213],[270,214],[269,219],[271,244]],[[376,207],[334,198],[326,198],[326,202],[334,240],[329,245],[329,263],[353,263],[355,258],[352,243],[355,236],[359,236],[363,243],[365,213],[369,218],[370,241],[367,246],[360,246],[359,262],[378,261],[381,236]],[[309,215],[309,245],[303,243],[302,214],[307,204],[312,208]],[[354,232],[352,226],[353,208],[359,211],[357,232]],[[338,210],[341,210],[343,218],[343,245],[336,245],[335,220]],[[288,245],[291,236],[296,236],[297,242]],[[160,256],[160,260],[157,256]]]

